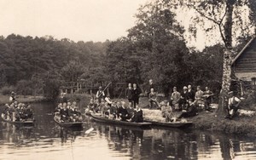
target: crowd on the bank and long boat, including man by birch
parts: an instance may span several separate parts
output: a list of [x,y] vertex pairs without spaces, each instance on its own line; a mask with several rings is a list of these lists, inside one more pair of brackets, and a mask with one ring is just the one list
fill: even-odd
[[[128,100],[128,105],[125,106],[125,101],[112,101],[109,94],[105,96],[104,90],[100,87],[96,93],[96,99],[92,98],[90,100],[88,110],[100,112],[104,117],[143,122],[143,111],[139,105],[140,94],[142,94],[142,90],[137,87],[136,83],[128,83],[128,87],[125,89],[125,98]],[[181,111],[179,116],[176,115],[176,119],[194,117],[199,111],[212,112],[210,104],[212,103],[213,92],[208,87],[205,87],[203,91],[201,86],[196,86],[196,91],[194,91],[192,86],[188,85],[183,86],[181,92],[177,91],[177,87],[173,87],[170,97],[159,102],[156,87],[153,80],[150,79],[145,94],[148,96],[149,109],[160,109],[162,117],[166,118],[166,122],[175,121],[173,111]],[[229,93],[227,118],[236,116],[240,102],[241,100],[233,92]]]

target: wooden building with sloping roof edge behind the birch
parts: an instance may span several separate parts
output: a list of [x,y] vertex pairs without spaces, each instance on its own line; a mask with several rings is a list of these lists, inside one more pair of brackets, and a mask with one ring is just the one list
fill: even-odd
[[255,86],[256,80],[256,37],[253,37],[247,45],[241,49],[232,61],[232,71],[241,80],[250,82]]

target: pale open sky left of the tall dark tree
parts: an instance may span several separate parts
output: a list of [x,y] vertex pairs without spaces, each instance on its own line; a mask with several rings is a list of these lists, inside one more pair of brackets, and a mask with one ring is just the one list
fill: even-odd
[[147,0],[0,0],[0,35],[115,40],[135,25]]

